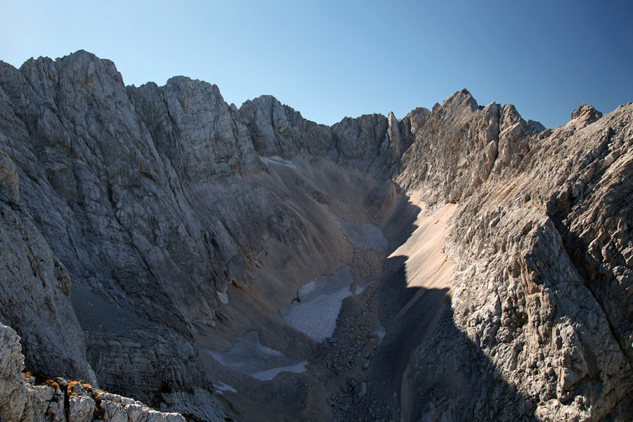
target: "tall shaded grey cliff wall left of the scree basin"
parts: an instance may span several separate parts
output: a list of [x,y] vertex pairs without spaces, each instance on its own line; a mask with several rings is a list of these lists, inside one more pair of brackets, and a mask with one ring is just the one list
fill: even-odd
[[[171,397],[167,385],[203,397],[194,392],[210,383],[199,376],[192,333],[216,324],[217,292],[250,285],[248,268],[269,239],[316,241],[338,263],[338,249],[325,247],[330,234],[306,236],[305,215],[249,175],[267,171],[258,153],[331,155],[356,132],[338,141],[274,98],[236,110],[217,87],[185,77],[125,87],[113,63],[85,51],[20,70],[0,63],[0,88],[2,148],[21,180],[20,205],[72,276],[89,362],[104,385],[155,405]],[[270,113],[274,130],[300,127],[301,136],[256,152],[268,145],[257,127]],[[389,139],[387,129],[372,136]],[[367,148],[340,161],[367,170],[378,154]]]

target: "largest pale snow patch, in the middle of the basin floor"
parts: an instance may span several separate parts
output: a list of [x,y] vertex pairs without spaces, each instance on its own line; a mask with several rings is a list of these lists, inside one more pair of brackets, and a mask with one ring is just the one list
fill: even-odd
[[279,314],[290,326],[321,342],[334,333],[343,299],[352,295],[352,283],[352,267],[347,265],[331,276],[301,286],[299,301],[281,309]]

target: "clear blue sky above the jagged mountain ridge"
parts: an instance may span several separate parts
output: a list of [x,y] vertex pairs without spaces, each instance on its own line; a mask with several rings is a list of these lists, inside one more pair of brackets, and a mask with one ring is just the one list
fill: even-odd
[[401,118],[462,88],[546,127],[633,101],[631,0],[0,0],[0,60],[78,49],[126,84],[186,75],[324,124]]

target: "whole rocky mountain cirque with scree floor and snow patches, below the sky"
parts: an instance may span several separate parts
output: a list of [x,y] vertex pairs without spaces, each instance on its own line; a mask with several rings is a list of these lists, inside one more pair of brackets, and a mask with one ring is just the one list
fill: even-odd
[[632,112],[326,127],[0,62],[1,419],[632,420]]

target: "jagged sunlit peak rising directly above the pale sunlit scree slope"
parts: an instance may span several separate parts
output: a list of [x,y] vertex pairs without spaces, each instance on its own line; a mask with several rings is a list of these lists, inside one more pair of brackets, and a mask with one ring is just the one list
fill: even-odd
[[408,191],[423,192],[430,205],[471,196],[493,171],[530,151],[530,135],[544,129],[525,122],[514,106],[478,106],[466,89],[415,118],[415,141],[402,157],[404,170],[396,180]]

